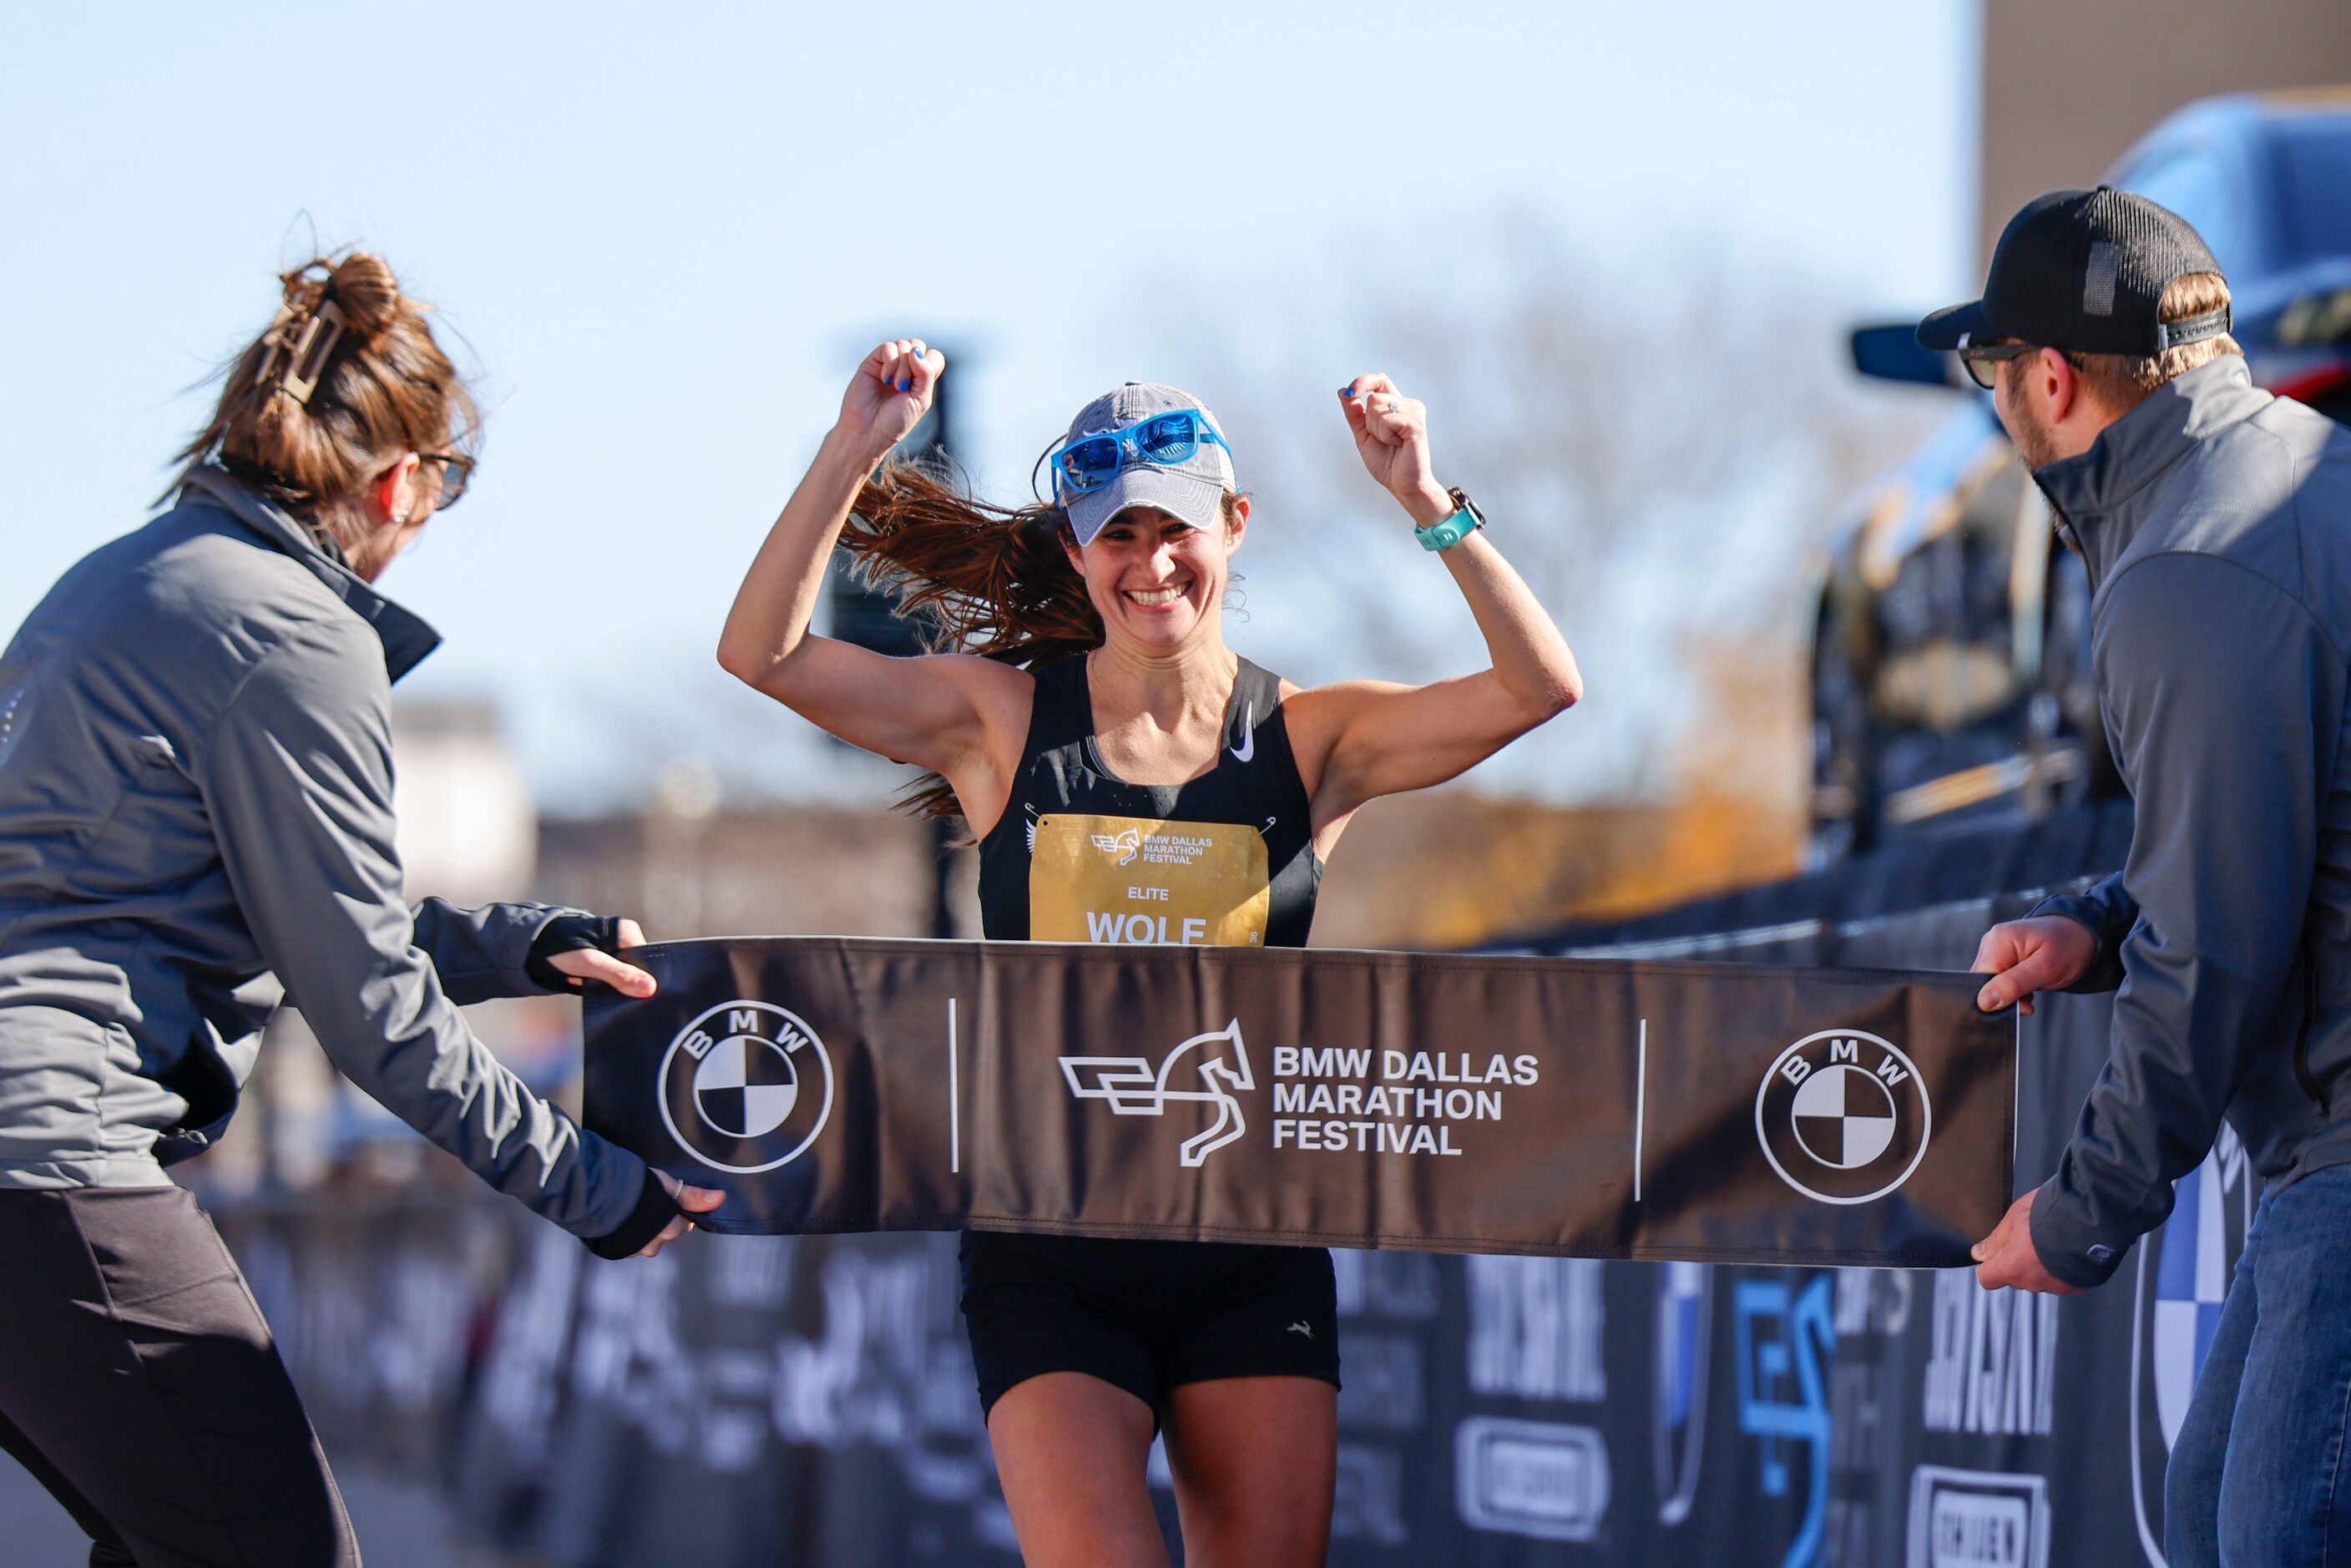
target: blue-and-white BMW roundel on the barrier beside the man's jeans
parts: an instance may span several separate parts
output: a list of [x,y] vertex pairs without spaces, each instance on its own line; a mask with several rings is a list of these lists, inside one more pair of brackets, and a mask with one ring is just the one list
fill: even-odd
[[2229,1276],[2259,1197],[2226,1121],[2205,1161],[2172,1185],[2172,1218],[2139,1239],[2130,1312],[2130,1502],[2146,1561],[2163,1568],[2163,1472],[2203,1375]]

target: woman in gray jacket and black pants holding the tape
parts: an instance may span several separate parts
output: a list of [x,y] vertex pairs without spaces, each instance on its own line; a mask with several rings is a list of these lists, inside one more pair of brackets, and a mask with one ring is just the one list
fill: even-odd
[[376,256],[284,275],[176,505],[0,654],[0,1448],[92,1563],[357,1563],[252,1293],[165,1166],[235,1110],[280,997],[353,1084],[604,1258],[677,1187],[574,1126],[461,1004],[597,980],[632,922],[402,903],[390,686],[437,637],[374,590],[458,498],[473,404]]

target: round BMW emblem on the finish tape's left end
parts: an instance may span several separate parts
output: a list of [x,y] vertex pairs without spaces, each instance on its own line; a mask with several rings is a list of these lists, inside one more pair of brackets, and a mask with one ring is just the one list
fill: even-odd
[[797,1013],[722,1001],[661,1058],[661,1121],[712,1171],[750,1175],[799,1159],[832,1114],[832,1058]]

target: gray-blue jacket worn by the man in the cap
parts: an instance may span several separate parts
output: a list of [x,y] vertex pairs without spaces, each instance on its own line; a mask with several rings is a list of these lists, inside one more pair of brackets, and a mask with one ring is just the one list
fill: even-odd
[[2074,1286],[2163,1222],[2222,1117],[2271,1187],[2351,1161],[2351,433],[2236,355],[2038,468],[2090,567],[2121,875],[2036,912],[2097,936],[2114,1044],[2034,1251]]

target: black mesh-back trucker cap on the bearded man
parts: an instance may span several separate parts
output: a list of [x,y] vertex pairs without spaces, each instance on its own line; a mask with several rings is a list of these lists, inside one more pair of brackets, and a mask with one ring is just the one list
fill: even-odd
[[2217,270],[2189,221],[2144,195],[2114,186],[2050,190],[2001,230],[1984,299],[1925,317],[1918,341],[1963,348],[2017,339],[2085,355],[2158,355],[2229,331],[2226,308],[2156,320],[2163,289]]

